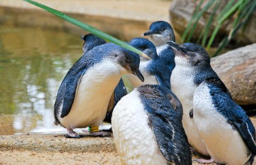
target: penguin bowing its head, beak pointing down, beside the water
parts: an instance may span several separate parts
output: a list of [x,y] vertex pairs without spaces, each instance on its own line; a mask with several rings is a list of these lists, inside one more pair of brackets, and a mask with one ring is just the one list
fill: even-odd
[[107,43],[94,47],[68,71],[54,103],[55,123],[67,129],[66,137],[80,138],[75,128],[99,126],[121,75],[139,71],[139,55]]

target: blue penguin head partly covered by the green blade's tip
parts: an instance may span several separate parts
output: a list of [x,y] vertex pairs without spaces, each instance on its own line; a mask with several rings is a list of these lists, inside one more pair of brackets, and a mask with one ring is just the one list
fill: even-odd
[[[147,54],[151,59],[157,58],[155,45],[147,39],[144,38],[134,38],[129,42],[130,45]],[[148,60],[141,57],[141,60]]]

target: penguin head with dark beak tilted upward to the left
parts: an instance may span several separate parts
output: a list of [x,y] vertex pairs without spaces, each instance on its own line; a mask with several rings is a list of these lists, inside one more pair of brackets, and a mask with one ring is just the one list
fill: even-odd
[[210,66],[210,57],[202,46],[191,42],[177,44],[174,41],[168,41],[167,44],[169,44],[175,52],[175,65],[188,67]]

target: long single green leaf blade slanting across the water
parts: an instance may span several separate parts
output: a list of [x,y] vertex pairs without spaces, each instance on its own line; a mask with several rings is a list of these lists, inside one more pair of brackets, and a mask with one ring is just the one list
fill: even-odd
[[40,4],[38,2],[31,1],[31,0],[23,0],[23,1],[31,3],[31,4],[39,7],[39,8],[42,8],[42,9],[48,11],[49,13],[57,15],[58,17],[62,18],[63,20],[68,21],[68,22],[72,23],[73,25],[76,25],[76,26],[78,26],[78,27],[80,27],[80,28],[82,28],[84,30],[87,30],[88,32],[90,32],[90,33],[92,33],[94,35],[97,35],[97,36],[99,36],[100,38],[102,38],[104,40],[107,40],[109,42],[113,42],[114,44],[117,44],[117,45],[119,45],[121,47],[127,48],[127,50],[130,50],[132,52],[138,53],[139,56],[142,56],[142,57],[150,59],[146,54],[144,54],[142,51],[139,51],[137,48],[132,47],[131,45],[127,44],[126,42],[121,41],[121,40],[119,40],[117,38],[114,38],[113,36],[108,35],[108,34],[102,32],[101,30],[96,29],[95,27],[92,27],[92,26],[88,25],[87,23],[78,21],[78,20],[76,20],[76,19],[74,19],[74,18],[72,18],[72,17],[70,17],[68,15],[65,15],[64,13],[61,13],[58,10],[52,9],[52,8],[47,7],[46,5]]

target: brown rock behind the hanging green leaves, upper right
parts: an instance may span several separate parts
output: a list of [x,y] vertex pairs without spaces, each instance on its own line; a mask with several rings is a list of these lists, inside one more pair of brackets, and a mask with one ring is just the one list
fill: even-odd
[[[208,3],[209,0],[205,0],[204,3],[201,6],[201,9],[205,7],[206,3]],[[197,4],[199,3],[199,0],[174,0],[169,8],[169,15],[170,15],[170,22],[172,23],[174,29],[176,32],[178,32],[180,35],[184,32],[185,28],[187,27],[188,22],[190,21],[194,11],[196,10]],[[228,3],[228,1],[222,1],[220,8],[218,8],[217,13],[215,14],[215,17],[220,13],[221,9],[225,7],[225,5]],[[212,7],[206,11],[201,19],[199,20],[197,29],[193,35],[193,39],[197,39],[199,34],[202,32],[203,27],[206,25],[208,18],[212,12]],[[233,23],[233,18],[228,19],[224,22],[224,25],[219,30],[216,38],[221,39],[223,38],[224,34],[228,34],[229,30],[231,29]],[[216,25],[211,25],[210,27],[210,34],[212,34],[213,30],[215,29]],[[248,24],[246,26],[245,32],[242,33],[242,30],[240,29],[237,34],[235,35],[234,40],[239,45],[248,45],[253,44],[256,42],[256,10],[254,10],[251,20],[248,21]]]

